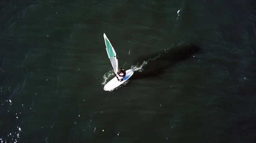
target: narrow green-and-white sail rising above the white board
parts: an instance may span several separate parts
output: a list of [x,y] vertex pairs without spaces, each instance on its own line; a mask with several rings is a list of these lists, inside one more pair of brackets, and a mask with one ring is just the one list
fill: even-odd
[[[113,69],[114,73],[117,74],[118,73],[118,59],[117,59],[116,51],[114,50],[113,46],[111,45],[111,43],[105,33],[103,34],[103,37],[104,37],[106,50],[108,53],[108,58],[111,62],[112,69]],[[117,76],[116,76],[116,78],[117,78]]]

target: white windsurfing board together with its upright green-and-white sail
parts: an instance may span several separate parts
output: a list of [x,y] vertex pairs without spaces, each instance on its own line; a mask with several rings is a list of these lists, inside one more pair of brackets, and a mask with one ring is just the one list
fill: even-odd
[[[118,73],[118,55],[116,54],[116,51],[114,50],[113,46],[111,45],[111,42],[109,41],[108,37],[106,34],[103,34],[107,54],[108,54],[108,59],[110,60],[111,67],[113,69],[113,75],[116,76],[116,73]],[[125,77],[123,78],[122,81],[119,81],[118,77],[114,77],[110,81],[108,81],[107,84],[104,86],[105,91],[110,91],[115,89],[116,87],[119,87],[121,84],[125,83],[132,75],[134,71],[132,69],[126,70]]]

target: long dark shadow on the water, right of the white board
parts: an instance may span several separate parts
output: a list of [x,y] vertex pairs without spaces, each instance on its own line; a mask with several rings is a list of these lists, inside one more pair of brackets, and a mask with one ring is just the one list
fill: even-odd
[[196,45],[186,45],[138,57],[133,61],[133,64],[144,65],[141,67],[142,71],[134,70],[131,79],[143,79],[160,75],[166,71],[166,68],[200,51],[201,48]]

